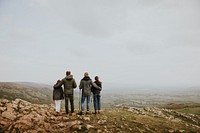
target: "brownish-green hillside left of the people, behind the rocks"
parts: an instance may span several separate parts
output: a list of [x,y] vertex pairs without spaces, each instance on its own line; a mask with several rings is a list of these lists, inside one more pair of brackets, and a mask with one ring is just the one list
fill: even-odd
[[0,98],[20,98],[37,104],[53,102],[50,86],[31,82],[0,82]]

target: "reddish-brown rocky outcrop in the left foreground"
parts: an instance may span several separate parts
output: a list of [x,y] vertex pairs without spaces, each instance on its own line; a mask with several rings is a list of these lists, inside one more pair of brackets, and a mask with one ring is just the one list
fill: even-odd
[[57,114],[53,105],[31,104],[22,99],[0,103],[0,132],[75,132],[95,129],[88,116]]

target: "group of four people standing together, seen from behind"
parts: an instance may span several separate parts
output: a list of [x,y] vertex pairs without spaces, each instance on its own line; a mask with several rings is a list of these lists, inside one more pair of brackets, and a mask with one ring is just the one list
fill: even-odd
[[[64,86],[64,90],[63,87]],[[69,114],[69,102],[71,105],[71,113],[74,113],[74,89],[77,87],[76,81],[71,75],[70,71],[66,71],[66,77],[62,80],[58,80],[53,86],[53,100],[55,102],[56,112],[60,112],[61,101],[65,99],[65,111]],[[90,99],[91,93],[93,93],[94,110],[95,114],[100,113],[101,110],[101,95],[102,82],[99,80],[98,76],[95,76],[95,81],[89,77],[88,72],[84,73],[84,77],[80,81],[79,92],[82,90],[81,101],[79,98],[79,115],[84,114],[84,103],[86,99],[86,114],[90,114]],[[79,95],[80,97],[80,95]],[[81,105],[80,105],[81,102]],[[81,106],[81,110],[80,110]]]

